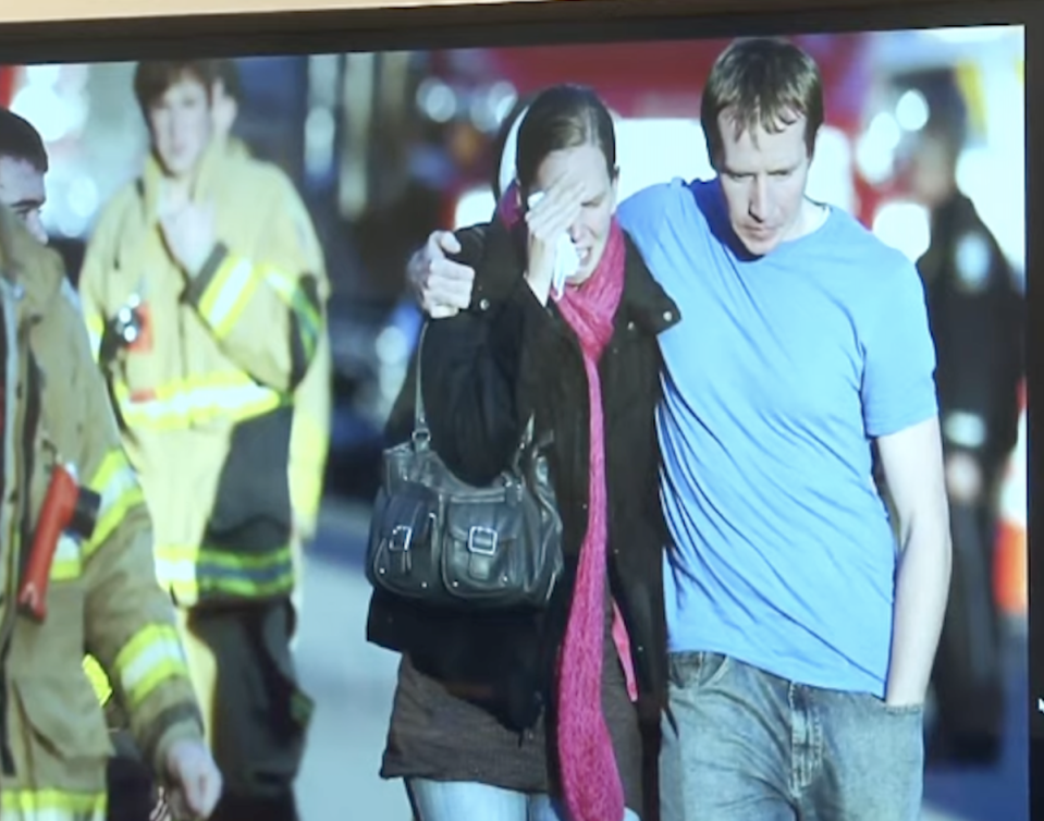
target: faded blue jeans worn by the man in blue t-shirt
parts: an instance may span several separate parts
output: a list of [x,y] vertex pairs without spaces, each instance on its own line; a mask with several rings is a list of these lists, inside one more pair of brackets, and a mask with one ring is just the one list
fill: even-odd
[[673,653],[661,821],[917,821],[923,711]]

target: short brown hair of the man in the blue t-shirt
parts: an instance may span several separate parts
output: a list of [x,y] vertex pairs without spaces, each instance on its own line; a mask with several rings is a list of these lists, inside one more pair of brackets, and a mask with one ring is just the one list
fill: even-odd
[[714,62],[703,98],[700,120],[711,164],[717,168],[724,147],[718,117],[735,112],[737,135],[761,125],[782,131],[806,119],[809,156],[823,124],[823,79],[815,61],[791,42],[774,37],[734,41]]

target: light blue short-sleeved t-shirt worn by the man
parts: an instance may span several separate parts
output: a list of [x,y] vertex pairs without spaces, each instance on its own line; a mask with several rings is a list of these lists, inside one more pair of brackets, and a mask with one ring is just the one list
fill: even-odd
[[716,180],[619,219],[681,313],[660,338],[671,650],[883,695],[896,542],[872,440],[937,412],[916,268],[837,209],[750,258]]

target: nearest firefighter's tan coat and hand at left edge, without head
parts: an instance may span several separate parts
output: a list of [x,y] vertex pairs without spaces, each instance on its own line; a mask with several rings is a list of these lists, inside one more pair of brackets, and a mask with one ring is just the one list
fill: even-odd
[[[81,667],[86,647],[127,708],[138,746],[199,816],[220,776],[202,745],[151,530],[59,257],[0,208],[3,340],[0,502],[0,818],[101,821],[111,751]],[[42,622],[20,612],[56,466],[100,500],[91,525],[57,541]],[[59,467],[58,469],[61,469]]]

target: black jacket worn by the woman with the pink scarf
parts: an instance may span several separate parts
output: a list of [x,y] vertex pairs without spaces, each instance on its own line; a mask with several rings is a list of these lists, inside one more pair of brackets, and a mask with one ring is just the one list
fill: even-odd
[[[563,519],[565,573],[546,611],[479,617],[442,615],[380,592],[368,638],[409,653],[414,664],[483,703],[507,725],[531,725],[552,691],[580,546],[587,527],[588,388],[579,344],[553,303],[526,283],[523,237],[499,223],[457,234],[460,261],[476,270],[471,308],[430,323],[423,399],[433,448],[462,479],[492,481],[507,465],[525,421],[550,434],[549,463]],[[656,334],[678,310],[627,240],[615,332],[600,375],[605,424],[610,583],[630,634],[643,702],[665,703],[666,626],[660,507]],[[404,441],[413,422],[413,373],[389,425]]]

